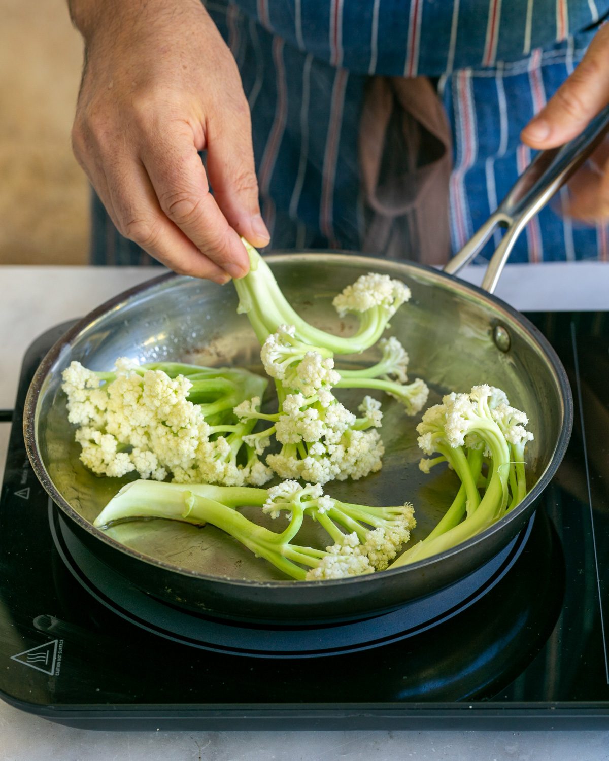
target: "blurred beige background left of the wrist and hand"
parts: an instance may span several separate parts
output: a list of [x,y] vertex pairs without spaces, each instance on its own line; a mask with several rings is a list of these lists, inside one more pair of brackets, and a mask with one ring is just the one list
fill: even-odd
[[84,264],[88,184],[70,129],[81,38],[65,0],[0,0],[0,264]]

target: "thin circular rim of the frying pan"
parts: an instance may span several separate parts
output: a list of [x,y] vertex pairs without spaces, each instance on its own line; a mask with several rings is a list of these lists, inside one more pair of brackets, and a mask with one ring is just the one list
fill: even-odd
[[[493,536],[493,534],[497,531],[502,530],[506,524],[515,521],[517,516],[522,515],[525,512],[532,511],[534,502],[537,501],[537,498],[540,496],[541,492],[544,491],[553,475],[556,473],[558,466],[560,466],[560,463],[563,460],[566,448],[569,444],[569,438],[571,436],[573,425],[574,411],[571,388],[569,386],[569,381],[567,380],[566,371],[563,368],[562,362],[556,354],[556,351],[553,349],[553,346],[546,339],[546,337],[540,333],[540,330],[538,330],[537,327],[530,322],[530,320],[528,320],[514,307],[510,306],[505,301],[502,301],[502,299],[496,297],[493,294],[489,294],[487,291],[483,290],[483,288],[479,288],[477,285],[472,285],[469,282],[465,282],[459,279],[455,275],[449,275],[447,272],[443,272],[442,270],[435,269],[431,266],[406,260],[389,260],[381,256],[363,256],[361,253],[357,252],[336,250],[298,251],[289,253],[276,251],[265,255],[264,258],[269,264],[272,265],[273,263],[284,263],[286,260],[298,262],[319,257],[323,257],[324,261],[340,262],[340,260],[345,256],[349,256],[349,260],[353,263],[365,264],[367,266],[374,266],[375,263],[382,262],[384,267],[395,269],[396,275],[400,275],[401,273],[401,276],[405,275],[403,272],[404,267],[407,269],[414,269],[415,271],[419,270],[426,275],[427,279],[429,279],[431,276],[435,281],[435,285],[446,286],[448,283],[451,283],[453,289],[456,288],[457,291],[460,291],[460,295],[473,294],[477,295],[479,298],[483,298],[484,301],[489,302],[494,307],[496,307],[496,309],[498,308],[499,311],[505,313],[505,316],[509,318],[509,322],[512,323],[512,325],[516,325],[525,333],[528,333],[531,339],[533,339],[537,344],[537,348],[540,349],[541,353],[547,359],[547,362],[550,365],[551,371],[555,377],[556,386],[560,390],[560,396],[563,403],[561,409],[563,421],[560,428],[560,435],[556,441],[552,456],[550,457],[550,461],[544,469],[544,472],[541,473],[541,476],[535,483],[534,487],[530,492],[528,492],[523,501],[521,501],[521,503],[517,505],[516,508],[514,508],[514,510],[510,511],[509,514],[502,517],[499,521],[496,521],[496,523],[488,527],[483,532],[478,533],[475,537],[471,537],[469,540],[458,544],[458,546],[445,550],[445,552],[438,553],[438,555],[431,556],[418,562],[413,562],[409,565],[390,568],[382,572],[375,572],[374,574],[350,576],[339,579],[327,579],[324,581],[295,582],[294,580],[290,579],[259,581],[255,579],[242,579],[219,575],[209,575],[206,573],[197,572],[195,570],[190,570],[188,568],[180,568],[162,560],[147,556],[135,549],[123,545],[117,540],[114,540],[112,537],[108,537],[107,534],[105,534],[102,530],[94,527],[94,525],[89,523],[89,521],[86,521],[84,517],[82,517],[81,514],[79,514],[67,500],[65,500],[59,490],[56,489],[53,480],[49,476],[49,473],[43,464],[37,443],[36,430],[36,412],[37,403],[40,398],[40,390],[43,387],[46,377],[49,375],[50,369],[59,359],[62,351],[65,350],[65,347],[71,345],[72,342],[74,342],[75,339],[80,335],[80,333],[82,333],[84,330],[90,329],[97,320],[100,320],[102,317],[104,317],[104,315],[107,314],[110,310],[115,310],[119,308],[121,304],[129,302],[132,297],[136,295],[144,295],[146,291],[151,291],[153,288],[157,288],[164,283],[179,279],[192,279],[187,275],[177,275],[175,272],[165,272],[162,275],[158,275],[152,279],[139,283],[138,285],[135,285],[126,291],[122,291],[120,294],[117,294],[113,298],[104,301],[103,304],[100,304],[94,310],[91,310],[91,312],[84,315],[81,320],[78,320],[71,328],[69,328],[69,330],[64,333],[63,336],[61,336],[55,342],[55,344],[53,344],[51,349],[49,349],[49,352],[47,352],[43,360],[40,362],[37,371],[33,375],[33,379],[27,391],[27,397],[24,405],[24,441],[27,450],[27,456],[30,460],[31,466],[33,467],[34,473],[36,473],[37,478],[39,479],[41,485],[53,503],[59,507],[59,509],[61,509],[62,512],[67,515],[67,517],[75,521],[79,527],[90,533],[93,537],[103,541],[112,549],[116,549],[128,556],[131,556],[133,559],[148,563],[148,565],[153,565],[157,568],[162,568],[167,571],[178,573],[183,576],[190,578],[199,578],[207,583],[230,584],[231,587],[237,585],[239,587],[264,589],[265,591],[271,589],[285,590],[286,588],[311,589],[320,586],[328,588],[336,587],[336,585],[344,586],[345,584],[371,583],[375,579],[378,579],[379,574],[383,574],[384,578],[388,578],[390,575],[396,575],[400,572],[403,572],[405,568],[421,570],[431,565],[435,565],[436,563],[444,562],[447,559],[461,554],[461,552],[467,552],[470,547],[476,546],[478,543],[486,540],[486,538]],[[473,570],[474,568],[472,568],[472,571]]]

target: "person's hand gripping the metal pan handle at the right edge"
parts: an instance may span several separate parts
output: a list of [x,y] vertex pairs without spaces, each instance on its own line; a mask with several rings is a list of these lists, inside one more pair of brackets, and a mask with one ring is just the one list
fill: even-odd
[[[582,62],[522,130],[531,148],[555,148],[579,135],[609,103],[609,24],[596,33]],[[568,212],[582,221],[609,219],[609,145],[601,144],[569,182]]]

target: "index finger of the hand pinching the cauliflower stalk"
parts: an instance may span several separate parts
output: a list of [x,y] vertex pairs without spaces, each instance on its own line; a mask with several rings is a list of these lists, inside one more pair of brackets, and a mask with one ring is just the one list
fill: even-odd
[[173,132],[154,130],[157,139],[146,139],[141,150],[158,205],[208,260],[233,278],[243,277],[250,266],[247,251],[209,193],[193,135],[188,128]]

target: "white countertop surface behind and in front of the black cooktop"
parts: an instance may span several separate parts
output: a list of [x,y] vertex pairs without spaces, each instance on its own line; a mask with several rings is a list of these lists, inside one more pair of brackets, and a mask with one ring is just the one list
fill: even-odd
[[[0,267],[0,409],[14,406],[21,360],[33,339],[159,272]],[[480,282],[480,269],[466,270],[464,279]],[[520,310],[609,310],[609,264],[508,266],[496,295]],[[0,424],[0,477],[9,428]],[[609,731],[91,732],[51,724],[0,702],[0,761],[337,758],[607,761]]]

